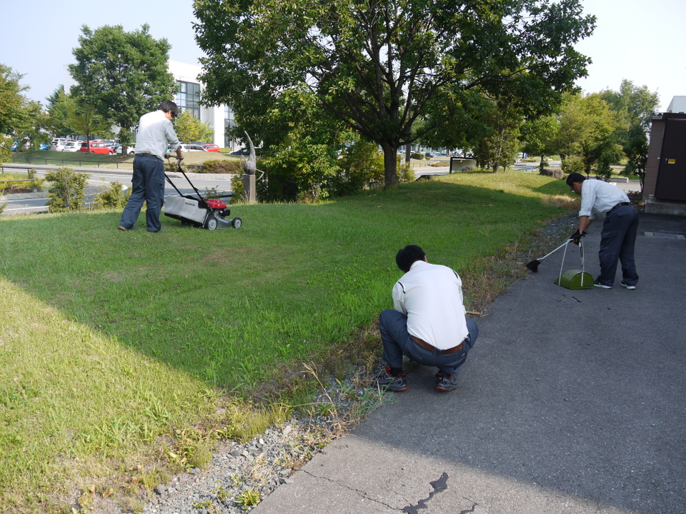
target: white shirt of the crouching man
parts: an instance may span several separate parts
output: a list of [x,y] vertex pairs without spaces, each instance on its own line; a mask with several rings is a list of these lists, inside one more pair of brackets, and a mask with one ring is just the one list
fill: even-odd
[[469,333],[462,280],[447,266],[412,263],[393,286],[393,304],[396,311],[407,316],[409,335],[439,350],[459,345]]

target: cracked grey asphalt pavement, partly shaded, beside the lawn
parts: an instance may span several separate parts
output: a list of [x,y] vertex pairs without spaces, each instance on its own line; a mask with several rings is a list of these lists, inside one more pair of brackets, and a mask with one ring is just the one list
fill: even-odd
[[[596,276],[600,222],[585,238]],[[658,236],[654,234],[657,233]],[[635,291],[555,285],[570,245],[489,306],[452,393],[408,373],[255,514],[686,512],[686,218],[642,214]],[[418,242],[421,244],[421,241]],[[392,284],[389,284],[389,296]],[[392,394],[392,393],[389,393]]]

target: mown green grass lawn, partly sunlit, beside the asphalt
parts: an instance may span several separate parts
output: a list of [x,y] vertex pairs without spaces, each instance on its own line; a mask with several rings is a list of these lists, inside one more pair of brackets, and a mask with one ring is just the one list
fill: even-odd
[[1,217],[0,510],[46,511],[136,463],[164,468],[175,433],[235,424],[219,403],[248,405],[392,307],[399,248],[419,244],[469,283],[484,257],[567,213],[567,191],[531,173],[459,173],[237,205],[239,229],[163,216],[159,234],[144,215],[117,231],[119,211]]

